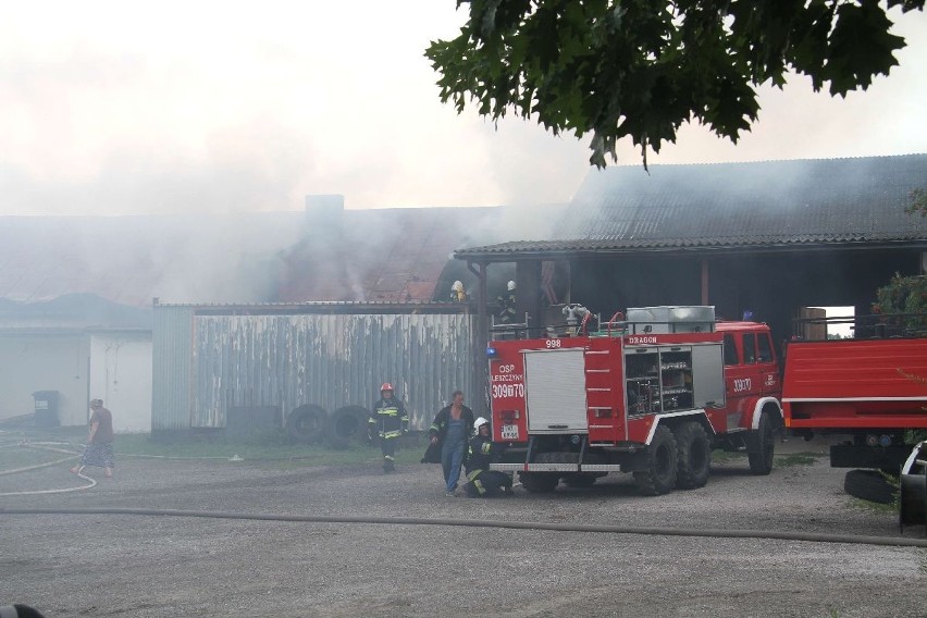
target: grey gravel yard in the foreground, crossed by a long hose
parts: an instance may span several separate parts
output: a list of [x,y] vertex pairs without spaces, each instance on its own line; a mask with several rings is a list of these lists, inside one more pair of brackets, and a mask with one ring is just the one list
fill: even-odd
[[[790,441],[782,452],[823,452]],[[778,459],[777,461],[782,461]],[[101,471],[100,471],[101,472]],[[437,466],[279,470],[122,458],[86,491],[0,496],[2,508],[122,507],[454,518],[898,537],[842,491],[826,457],[639,496],[626,474],[548,495],[444,496]],[[77,484],[67,465],[0,475],[0,493]],[[920,539],[924,527],[905,531]],[[128,515],[0,514],[0,604],[47,617],[927,616],[927,549],[491,528]]]

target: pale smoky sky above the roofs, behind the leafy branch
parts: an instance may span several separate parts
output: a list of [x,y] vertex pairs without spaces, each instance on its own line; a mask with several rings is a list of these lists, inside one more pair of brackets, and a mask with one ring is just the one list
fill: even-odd
[[[890,17],[909,47],[867,91],[794,77],[737,146],[685,126],[648,162],[927,152],[927,15]],[[568,201],[588,136],[441,103],[423,52],[466,18],[456,0],[0,0],[0,214]]]

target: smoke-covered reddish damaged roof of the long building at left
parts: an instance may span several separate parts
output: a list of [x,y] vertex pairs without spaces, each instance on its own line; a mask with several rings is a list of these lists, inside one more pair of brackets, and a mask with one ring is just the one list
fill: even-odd
[[431,301],[448,263],[460,264],[454,250],[518,237],[514,217],[500,207],[0,217],[0,300]]

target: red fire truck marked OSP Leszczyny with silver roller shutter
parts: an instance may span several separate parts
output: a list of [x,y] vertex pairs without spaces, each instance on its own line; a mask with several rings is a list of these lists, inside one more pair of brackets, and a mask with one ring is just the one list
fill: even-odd
[[715,448],[745,450],[754,474],[770,472],[782,410],[765,324],[644,307],[588,331],[589,312],[571,314],[582,323],[536,338],[496,331],[493,440],[507,448],[493,469],[517,471],[529,492],[632,472],[646,495],[703,486]]

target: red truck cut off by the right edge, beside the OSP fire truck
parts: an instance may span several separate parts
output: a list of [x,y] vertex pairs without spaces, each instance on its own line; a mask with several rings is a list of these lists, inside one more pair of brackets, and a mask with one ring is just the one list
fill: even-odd
[[[808,341],[808,326],[848,324],[853,338]],[[786,346],[784,422],[792,434],[841,434],[835,468],[898,474],[911,453],[907,430],[927,430],[927,316],[861,316],[799,321]]]

